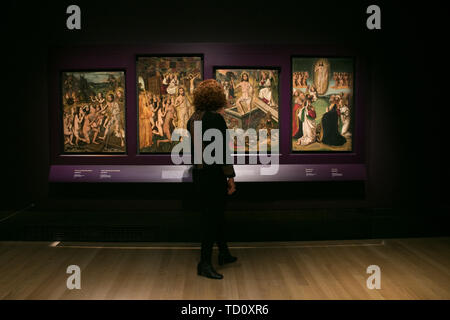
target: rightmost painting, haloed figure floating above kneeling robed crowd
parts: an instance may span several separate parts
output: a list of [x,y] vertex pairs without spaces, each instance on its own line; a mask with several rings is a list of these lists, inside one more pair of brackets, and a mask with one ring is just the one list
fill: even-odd
[[350,58],[292,59],[292,150],[351,151]]

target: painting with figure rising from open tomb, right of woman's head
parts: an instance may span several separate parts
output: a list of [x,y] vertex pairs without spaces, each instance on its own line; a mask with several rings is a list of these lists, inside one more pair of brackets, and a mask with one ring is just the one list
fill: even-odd
[[[229,129],[267,130],[267,150],[278,148],[278,110],[279,110],[279,70],[277,69],[232,69],[217,68],[216,80],[222,84],[228,105],[225,108],[225,121]],[[236,153],[258,152],[262,141],[250,136],[241,146],[235,142]],[[276,145],[272,145],[272,143]]]

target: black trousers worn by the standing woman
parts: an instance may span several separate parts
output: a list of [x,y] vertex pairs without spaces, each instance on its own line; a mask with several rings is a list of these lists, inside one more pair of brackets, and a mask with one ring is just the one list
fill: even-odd
[[201,262],[211,263],[214,243],[217,242],[219,251],[228,251],[224,233],[227,178],[220,167],[211,167],[194,169],[193,182],[201,213]]

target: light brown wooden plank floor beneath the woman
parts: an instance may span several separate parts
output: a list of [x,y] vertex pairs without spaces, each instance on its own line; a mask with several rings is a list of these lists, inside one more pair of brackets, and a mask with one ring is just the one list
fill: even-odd
[[[195,245],[0,242],[0,299],[450,299],[450,238],[230,246],[238,262],[210,280]],[[80,290],[66,287],[72,264]]]

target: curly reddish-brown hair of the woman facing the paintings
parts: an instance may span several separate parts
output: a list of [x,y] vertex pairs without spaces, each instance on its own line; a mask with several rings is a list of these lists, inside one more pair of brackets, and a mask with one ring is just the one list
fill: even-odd
[[225,107],[227,100],[220,83],[214,79],[202,81],[194,90],[194,106],[196,110],[215,111]]

